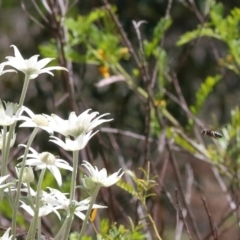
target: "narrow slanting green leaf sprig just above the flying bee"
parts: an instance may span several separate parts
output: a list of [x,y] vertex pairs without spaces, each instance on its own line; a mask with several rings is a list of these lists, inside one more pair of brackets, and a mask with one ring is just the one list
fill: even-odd
[[193,114],[198,114],[201,110],[203,104],[206,101],[208,95],[212,92],[214,86],[221,79],[220,75],[208,76],[206,80],[201,84],[200,88],[196,92],[196,103],[193,106],[190,106],[190,110]]

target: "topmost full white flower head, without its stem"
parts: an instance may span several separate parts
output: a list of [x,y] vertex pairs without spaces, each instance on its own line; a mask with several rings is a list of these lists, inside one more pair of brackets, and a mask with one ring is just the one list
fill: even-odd
[[6,57],[7,61],[2,64],[16,68],[18,71],[28,75],[30,79],[36,78],[41,73],[48,73],[53,76],[52,70],[68,71],[66,68],[60,66],[45,67],[54,58],[44,58],[38,61],[39,55],[34,55],[29,59],[24,59],[15,45],[11,45],[11,47],[14,49],[15,56]]

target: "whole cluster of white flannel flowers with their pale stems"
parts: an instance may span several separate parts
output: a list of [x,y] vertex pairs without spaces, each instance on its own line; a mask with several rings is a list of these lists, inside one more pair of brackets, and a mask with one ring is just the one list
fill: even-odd
[[[94,204],[99,189],[115,184],[124,174],[120,169],[118,172],[108,176],[105,168],[98,171],[97,167],[93,167],[89,162],[84,160],[82,166],[86,168],[88,175],[82,178],[82,188],[87,190],[90,197],[82,201],[75,201],[74,193],[78,170],[78,153],[85,148],[88,141],[97,133],[97,131],[93,132],[93,129],[112,119],[104,118],[109,113],[99,115],[98,112],[91,112],[91,109],[84,111],[79,116],[77,116],[75,112],[71,112],[67,120],[55,114],[51,116],[46,114],[34,114],[29,108],[23,105],[30,80],[35,79],[42,73],[53,76],[52,70],[67,71],[67,69],[60,66],[45,67],[53,60],[52,58],[44,58],[38,61],[39,55],[34,55],[29,59],[24,59],[18,48],[14,45],[12,47],[14,49],[14,56],[6,57],[7,61],[0,64],[0,75],[8,72],[16,72],[17,70],[24,73],[25,83],[18,104],[6,103],[0,100],[0,126],[3,127],[0,133],[0,149],[3,158],[0,175],[0,190],[2,189],[3,191],[0,191],[0,204],[3,197],[2,194],[8,194],[12,203],[14,203],[12,228],[9,228],[0,239],[15,238],[18,206],[33,217],[31,227],[29,228],[29,234],[32,236],[36,234],[36,228],[39,226],[38,221],[40,217],[53,212],[61,219],[59,213],[61,209],[67,211],[67,218],[64,222],[64,226],[66,224],[66,227],[62,227],[62,229],[65,229],[65,236],[67,237],[66,234],[70,231],[73,214],[84,221],[81,230],[82,233],[82,231],[85,230],[84,228],[86,227],[91,210],[94,208],[105,208],[105,206]],[[12,67],[14,69],[5,69],[6,67]],[[19,127],[33,128],[33,131],[27,144],[19,145],[24,147],[24,154],[18,158],[21,162],[15,167],[18,180],[8,181],[10,176],[7,174],[7,159],[9,151],[14,146],[16,140],[15,130],[18,121],[22,121]],[[31,147],[39,129],[45,130],[50,134],[50,142],[57,144],[65,151],[72,152],[73,166],[50,152],[44,151],[38,153]],[[65,141],[53,136],[54,133],[62,134]],[[59,169],[72,172],[69,198],[66,197],[68,194],[62,193],[57,189],[48,187],[49,192],[41,190],[47,169],[54,176],[59,186],[62,185],[62,175]],[[34,181],[33,170],[41,171],[36,191],[30,187],[30,183]],[[20,198],[23,192],[25,193],[25,198],[27,194],[28,201],[23,201]],[[87,211],[86,215],[83,214],[82,211]],[[10,231],[12,231],[11,236],[9,236]],[[58,235],[61,234],[63,234],[62,230],[59,231]]]

